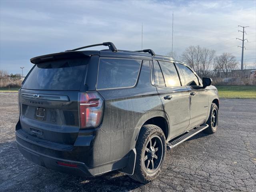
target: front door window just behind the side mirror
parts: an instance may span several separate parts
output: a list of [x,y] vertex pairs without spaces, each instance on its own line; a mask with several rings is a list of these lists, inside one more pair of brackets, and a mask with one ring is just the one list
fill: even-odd
[[199,85],[198,78],[196,77],[194,72],[192,72],[192,70],[190,70],[190,68],[188,68],[187,66],[182,65],[182,64],[177,64],[177,66],[180,69],[180,71],[182,72],[186,86],[198,86]]

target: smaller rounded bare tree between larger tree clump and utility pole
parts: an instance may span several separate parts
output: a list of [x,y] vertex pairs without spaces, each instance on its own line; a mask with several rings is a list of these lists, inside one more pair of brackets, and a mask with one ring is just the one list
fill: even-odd
[[236,57],[230,53],[222,53],[214,59],[214,66],[216,69],[222,71],[227,77],[230,70],[234,70],[238,66]]

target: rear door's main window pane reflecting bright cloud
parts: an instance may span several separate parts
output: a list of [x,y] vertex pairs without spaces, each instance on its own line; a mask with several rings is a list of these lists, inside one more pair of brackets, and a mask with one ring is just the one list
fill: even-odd
[[173,63],[158,61],[164,75],[166,87],[180,86],[180,79]]

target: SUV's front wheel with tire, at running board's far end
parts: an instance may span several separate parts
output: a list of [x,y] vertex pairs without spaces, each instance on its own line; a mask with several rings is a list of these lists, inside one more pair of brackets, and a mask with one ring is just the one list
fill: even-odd
[[218,107],[215,103],[212,103],[210,115],[206,122],[209,125],[208,128],[203,130],[204,133],[213,134],[218,128]]

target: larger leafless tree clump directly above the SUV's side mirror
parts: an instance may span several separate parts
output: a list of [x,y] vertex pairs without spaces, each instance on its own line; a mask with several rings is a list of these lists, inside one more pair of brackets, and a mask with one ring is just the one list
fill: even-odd
[[216,51],[201,48],[200,46],[190,46],[182,53],[182,60],[186,62],[200,76],[210,73]]

